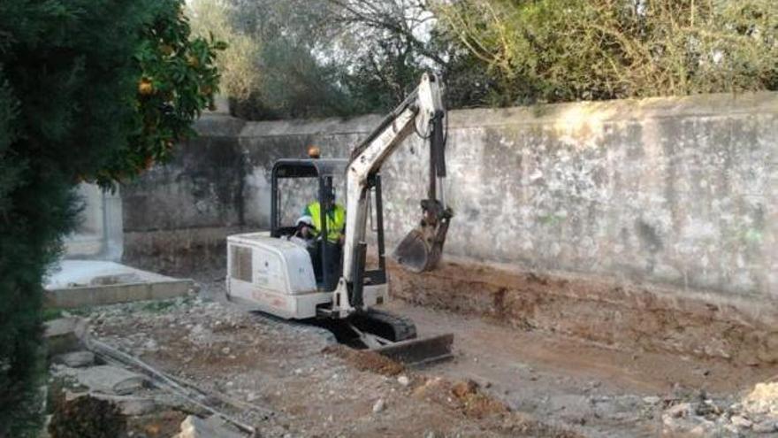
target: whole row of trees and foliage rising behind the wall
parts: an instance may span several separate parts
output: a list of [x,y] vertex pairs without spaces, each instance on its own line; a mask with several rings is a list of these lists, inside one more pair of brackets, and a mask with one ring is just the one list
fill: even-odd
[[386,111],[425,70],[454,108],[778,88],[772,0],[194,1],[260,48],[254,119]]

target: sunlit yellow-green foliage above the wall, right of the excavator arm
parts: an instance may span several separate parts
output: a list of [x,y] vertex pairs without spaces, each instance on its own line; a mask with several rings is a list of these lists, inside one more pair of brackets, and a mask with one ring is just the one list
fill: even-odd
[[772,0],[459,0],[439,6],[491,104],[775,88]]

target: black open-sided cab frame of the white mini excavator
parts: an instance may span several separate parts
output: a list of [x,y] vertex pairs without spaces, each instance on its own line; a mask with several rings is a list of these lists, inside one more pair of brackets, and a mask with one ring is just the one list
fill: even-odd
[[[318,230],[317,238],[309,242],[307,249],[311,257],[317,288],[332,292],[338,285],[342,274],[342,248],[339,243],[328,242],[322,236],[330,230],[325,219],[326,211],[333,200],[345,205],[345,199],[338,199],[339,188],[344,186],[347,160],[337,158],[285,158],[273,165],[271,175],[271,237],[290,239],[298,232],[296,220],[305,205],[317,200],[322,208],[319,223],[324,229]],[[290,193],[294,192],[294,193]],[[345,192],[345,191],[344,191]],[[384,219],[381,199],[381,177],[377,174],[370,181],[372,194],[370,230],[375,234],[375,266],[365,269],[365,285],[384,285],[386,283],[386,262],[384,256]],[[348,214],[348,212],[347,212]]]

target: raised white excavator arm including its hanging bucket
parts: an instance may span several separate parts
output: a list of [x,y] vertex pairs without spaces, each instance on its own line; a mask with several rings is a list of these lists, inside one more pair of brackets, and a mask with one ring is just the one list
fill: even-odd
[[446,111],[441,88],[435,75],[424,74],[416,90],[352,152],[346,171],[348,214],[343,243],[343,275],[335,290],[332,309],[340,318],[346,318],[363,307],[370,176],[378,173],[385,160],[414,132],[425,133],[424,138],[430,140],[428,199],[422,201],[423,219],[419,227],[400,242],[394,257],[400,265],[414,272],[433,269],[439,261],[448,221],[452,217],[442,196],[442,179],[446,176],[443,125]]

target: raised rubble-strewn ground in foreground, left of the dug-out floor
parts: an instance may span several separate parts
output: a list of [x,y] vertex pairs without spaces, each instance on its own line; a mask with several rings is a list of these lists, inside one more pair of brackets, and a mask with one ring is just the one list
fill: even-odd
[[[473,382],[347,350],[318,327],[200,298],[168,303],[108,306],[86,317],[95,339],[245,403],[226,413],[261,436],[577,436],[510,411]],[[164,419],[148,419],[156,434],[134,423],[134,436],[170,429]]]

